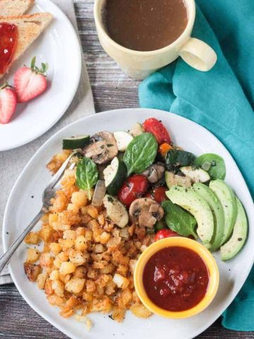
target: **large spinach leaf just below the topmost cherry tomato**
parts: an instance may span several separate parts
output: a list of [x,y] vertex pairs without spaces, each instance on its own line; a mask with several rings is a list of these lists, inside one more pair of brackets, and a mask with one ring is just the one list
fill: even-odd
[[142,133],[135,136],[128,144],[123,160],[131,173],[142,173],[152,165],[157,155],[158,143],[151,133]]

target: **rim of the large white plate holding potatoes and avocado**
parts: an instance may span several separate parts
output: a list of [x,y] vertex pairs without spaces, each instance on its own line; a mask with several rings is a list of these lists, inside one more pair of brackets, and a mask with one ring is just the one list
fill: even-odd
[[[217,141],[217,143],[219,143],[220,147],[224,148],[224,150],[226,150],[226,153],[228,153],[228,156],[231,158],[231,161],[234,162],[234,165],[236,166],[236,169],[238,169],[238,172],[240,173],[241,175],[241,178],[243,179],[243,183],[245,185],[245,188],[246,188],[246,193],[248,192],[248,199],[250,199],[250,201],[252,201],[252,197],[250,195],[250,191],[248,189],[248,186],[246,184],[246,181],[245,179],[243,178],[243,174],[241,174],[241,171],[240,169],[238,168],[238,165],[236,164],[235,160],[234,160],[234,157],[232,157],[231,153],[229,152],[229,150],[227,150],[226,146],[223,145],[223,143],[221,141],[219,141],[219,139],[214,136],[214,134],[212,132],[210,132],[208,129],[206,129],[205,127],[201,126],[200,124],[196,123],[195,121],[192,121],[191,119],[188,119],[186,117],[181,117],[179,114],[176,114],[176,113],[173,113],[173,112],[167,112],[167,111],[164,111],[164,110],[161,110],[161,109],[151,109],[151,108],[132,108],[132,107],[127,107],[127,108],[121,108],[121,109],[109,109],[107,111],[103,111],[103,112],[99,112],[97,114],[101,115],[107,115],[107,114],[113,114],[114,112],[119,112],[119,114],[121,114],[121,111],[125,111],[126,109],[130,109],[130,110],[133,110],[135,112],[138,112],[138,111],[148,111],[148,112],[164,112],[164,113],[167,113],[167,114],[171,114],[175,117],[177,117],[177,119],[183,119],[188,121],[188,122],[191,122],[192,124],[198,126],[199,129],[202,129],[202,130],[205,130],[206,133],[209,133],[210,134],[210,137],[211,138],[214,138],[214,140]],[[97,115],[96,114],[96,115]],[[14,193],[14,191],[16,190],[16,186],[18,185],[19,181],[20,181],[20,178],[23,176],[23,173],[27,170],[27,168],[30,166],[30,162],[32,162],[32,160],[37,156],[37,153],[40,153],[40,151],[47,147],[48,143],[50,143],[52,141],[52,139],[56,138],[56,136],[58,136],[62,131],[64,131],[65,129],[68,129],[70,126],[74,125],[74,124],[77,124],[78,122],[80,121],[84,121],[86,119],[90,119],[91,117],[95,117],[95,114],[93,115],[89,115],[87,117],[82,117],[78,120],[75,120],[73,122],[71,122],[71,124],[68,124],[66,126],[63,126],[62,129],[60,129],[59,131],[56,131],[56,133],[54,133],[47,141],[45,141],[41,147],[36,151],[36,153],[30,158],[30,160],[28,161],[28,164],[25,165],[25,167],[23,168],[23,171],[20,173],[20,175],[18,176],[18,179],[16,179],[16,182],[15,184],[13,185],[13,188],[11,189],[11,193],[9,194],[8,196],[8,201],[6,203],[6,208],[4,210],[4,220],[3,220],[3,230],[2,230],[2,238],[3,238],[3,244],[4,244],[4,251],[6,251],[8,248],[7,248],[7,237],[6,237],[6,218],[7,218],[7,212],[8,212],[8,209],[10,208],[9,205],[10,205],[10,202],[11,202],[11,197]],[[253,213],[254,213],[254,206],[252,206],[252,210],[253,210]],[[254,252],[253,252],[253,258],[251,261],[249,261],[249,265],[248,265],[248,269],[246,270],[246,274],[243,276],[242,275],[242,278],[241,278],[241,283],[238,284],[238,287],[236,288],[236,295],[238,295],[238,292],[241,290],[241,288],[243,287],[243,284],[246,282],[247,278],[248,278],[248,275],[250,273],[250,270],[251,268],[253,267],[253,263],[254,263]],[[18,289],[18,292],[20,293],[20,295],[22,295],[23,299],[25,299],[25,302],[27,302],[29,304],[30,307],[32,307],[32,309],[34,309],[37,314],[39,314],[40,316],[42,316],[46,321],[48,321],[50,324],[52,324],[52,326],[56,327],[57,329],[59,329],[59,331],[61,331],[62,333],[68,335],[70,338],[72,339],[76,339],[75,336],[73,336],[72,333],[70,333],[68,330],[66,329],[63,329],[61,328],[60,325],[58,325],[58,323],[54,323],[54,321],[51,321],[51,319],[49,319],[49,316],[47,316],[46,312],[44,312],[43,310],[40,310],[36,305],[32,305],[32,302],[30,303],[30,299],[28,299],[27,297],[25,297],[25,293],[23,293],[22,291],[22,288],[20,288],[20,284],[17,282],[16,280],[16,276],[15,276],[15,273],[13,272],[12,268],[11,268],[11,263],[9,264],[8,266],[8,269],[9,269],[9,272],[11,273],[11,278],[13,279],[13,283],[15,283],[16,285],[16,288]],[[235,295],[235,297],[236,297]],[[234,297],[234,298],[235,298]],[[224,303],[224,309],[222,311],[222,313],[227,309],[227,307],[229,307],[229,305],[231,304],[231,302],[233,302],[234,299],[229,299],[227,300],[227,302]],[[195,338],[196,336],[200,335],[200,333],[203,333],[207,328],[209,328],[212,323],[214,323],[214,321],[216,321],[219,316],[222,316],[222,313],[219,313],[216,312],[216,314],[214,314],[213,317],[211,317],[211,321],[208,321],[207,323],[205,323],[204,326],[202,326],[201,328],[199,328],[197,331],[195,331],[194,333],[192,333],[192,335],[188,335],[182,339],[193,339]]]

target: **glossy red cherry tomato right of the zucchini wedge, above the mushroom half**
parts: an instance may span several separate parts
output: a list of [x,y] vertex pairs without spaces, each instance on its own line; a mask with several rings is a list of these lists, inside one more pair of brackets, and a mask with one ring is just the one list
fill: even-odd
[[126,206],[130,206],[136,199],[143,196],[147,191],[147,178],[143,175],[135,174],[129,177],[121,186],[118,197],[119,200]]

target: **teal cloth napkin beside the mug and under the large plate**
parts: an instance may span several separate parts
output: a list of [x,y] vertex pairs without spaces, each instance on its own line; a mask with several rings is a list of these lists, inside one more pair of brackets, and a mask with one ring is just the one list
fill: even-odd
[[[236,160],[254,197],[254,1],[196,3],[193,37],[210,44],[217,64],[202,73],[177,59],[140,84],[140,106],[168,110],[209,129]],[[254,268],[222,324],[254,331],[253,319]]]

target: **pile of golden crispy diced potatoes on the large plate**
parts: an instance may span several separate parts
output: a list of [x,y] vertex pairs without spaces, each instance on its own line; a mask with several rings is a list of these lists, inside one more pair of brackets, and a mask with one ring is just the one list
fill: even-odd
[[[68,154],[55,155],[48,168],[61,166]],[[49,304],[64,318],[89,323],[91,312],[110,313],[123,321],[126,310],[140,318],[151,316],[134,289],[133,271],[142,251],[154,242],[145,227],[120,229],[106,218],[106,210],[90,205],[85,191],[75,185],[75,169],[67,169],[61,190],[39,232],[30,232],[25,274],[44,290]],[[35,245],[43,243],[42,253]],[[78,311],[78,313],[76,313]]]

